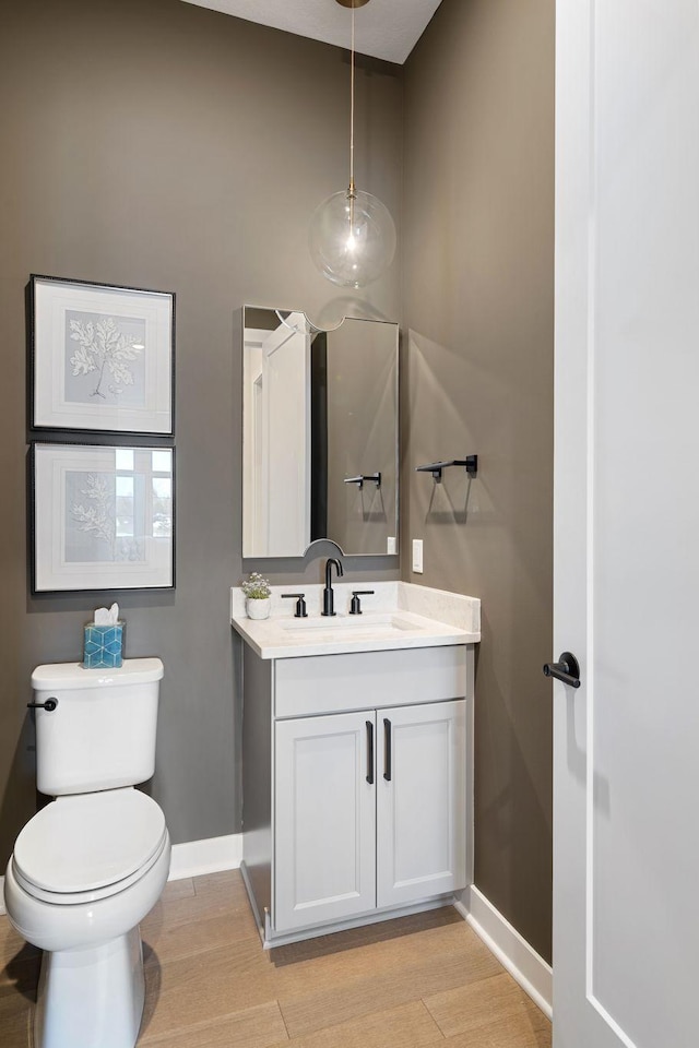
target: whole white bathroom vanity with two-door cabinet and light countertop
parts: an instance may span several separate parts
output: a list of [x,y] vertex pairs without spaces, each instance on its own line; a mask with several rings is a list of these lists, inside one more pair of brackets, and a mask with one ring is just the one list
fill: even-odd
[[[362,615],[308,618],[273,587],[245,617],[244,861],[268,946],[445,905],[471,881],[479,602],[364,584]],[[316,592],[318,591],[318,592]],[[351,607],[351,585],[335,606]]]

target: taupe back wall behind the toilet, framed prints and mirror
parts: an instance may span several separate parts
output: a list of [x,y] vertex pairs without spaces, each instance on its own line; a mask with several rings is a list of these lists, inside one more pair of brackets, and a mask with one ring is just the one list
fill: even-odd
[[[0,864],[33,814],[25,703],[39,663],[81,657],[119,599],[129,656],[162,656],[152,791],[175,842],[239,829],[239,696],[228,588],[240,559],[246,301],[400,320],[399,266],[365,294],[312,269],[315,206],[347,180],[348,66],[336,48],[177,0],[16,0],[0,32]],[[402,81],[357,81],[357,183],[400,213]],[[31,273],[177,295],[177,588],[33,598],[25,512]],[[327,552],[327,550],[325,550]],[[320,581],[318,555],[271,565]],[[395,577],[395,558],[354,575]],[[270,565],[264,565],[269,571]],[[362,570],[364,568],[364,570]]]

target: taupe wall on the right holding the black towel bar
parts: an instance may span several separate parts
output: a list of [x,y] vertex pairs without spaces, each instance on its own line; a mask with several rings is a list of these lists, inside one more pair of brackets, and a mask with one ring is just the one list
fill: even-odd
[[[403,574],[483,600],[475,882],[545,957],[554,13],[554,0],[443,0],[406,63],[403,213]],[[470,487],[464,471],[441,485],[413,472],[470,453]]]

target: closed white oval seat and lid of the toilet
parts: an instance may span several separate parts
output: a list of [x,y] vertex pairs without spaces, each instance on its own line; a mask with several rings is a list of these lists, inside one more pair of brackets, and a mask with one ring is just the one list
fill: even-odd
[[20,833],[12,868],[35,898],[88,903],[143,877],[167,839],[161,808],[132,787],[59,797]]

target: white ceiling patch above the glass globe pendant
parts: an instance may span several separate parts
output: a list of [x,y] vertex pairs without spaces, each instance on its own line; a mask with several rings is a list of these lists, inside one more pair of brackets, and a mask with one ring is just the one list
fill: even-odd
[[[352,11],[335,0],[185,0],[248,22],[348,47]],[[402,64],[441,0],[372,0],[355,12],[355,48]]]

